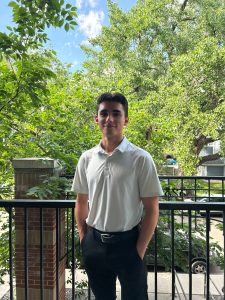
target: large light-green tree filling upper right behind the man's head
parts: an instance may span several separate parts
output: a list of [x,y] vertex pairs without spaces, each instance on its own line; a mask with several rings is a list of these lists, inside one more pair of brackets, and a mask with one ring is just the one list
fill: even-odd
[[[169,151],[195,174],[209,142],[224,148],[224,1],[108,1],[110,26],[83,47],[89,87],[130,100],[127,134],[160,164]],[[207,122],[208,120],[208,122]],[[130,129],[129,129],[130,128]]]

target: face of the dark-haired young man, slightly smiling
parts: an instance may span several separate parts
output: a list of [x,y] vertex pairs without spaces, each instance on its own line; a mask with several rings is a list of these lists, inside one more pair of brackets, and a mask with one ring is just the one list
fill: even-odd
[[123,127],[127,124],[128,117],[125,117],[121,103],[106,101],[99,105],[95,121],[101,129],[103,137],[118,137],[118,139],[121,139]]

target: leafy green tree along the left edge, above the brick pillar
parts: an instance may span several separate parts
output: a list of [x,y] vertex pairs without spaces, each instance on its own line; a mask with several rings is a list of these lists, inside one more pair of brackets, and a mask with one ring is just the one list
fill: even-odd
[[[32,142],[36,131],[29,119],[48,102],[48,82],[55,78],[55,52],[44,49],[46,27],[68,31],[76,25],[76,7],[61,0],[9,2],[13,27],[0,32],[0,183],[1,197],[9,197],[12,184],[10,160],[40,153]],[[34,121],[34,120],[33,120]],[[29,134],[28,134],[29,132]],[[29,139],[28,139],[29,135]],[[24,147],[28,145],[28,147]],[[39,151],[36,151],[35,149]],[[42,149],[44,153],[44,148]]]

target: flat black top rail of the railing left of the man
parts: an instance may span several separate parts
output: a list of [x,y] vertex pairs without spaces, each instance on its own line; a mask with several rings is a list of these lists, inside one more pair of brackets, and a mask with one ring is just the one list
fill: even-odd
[[74,208],[75,200],[0,200],[0,207]]

